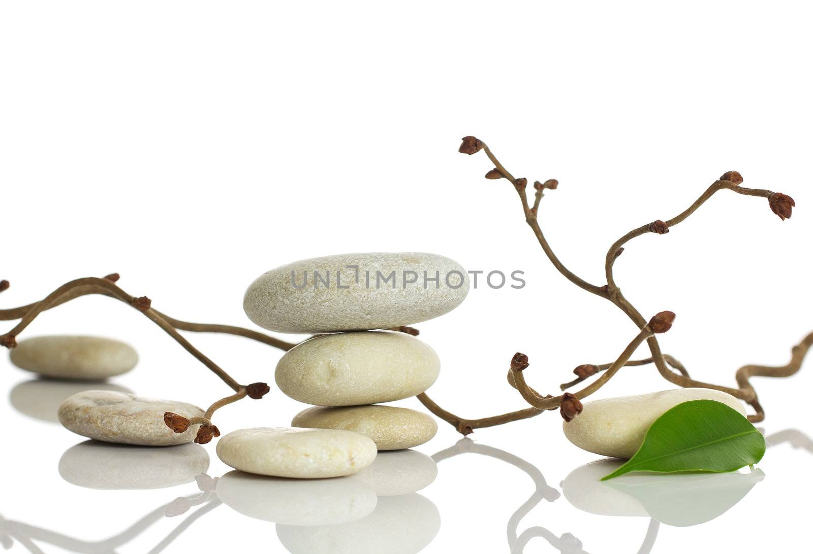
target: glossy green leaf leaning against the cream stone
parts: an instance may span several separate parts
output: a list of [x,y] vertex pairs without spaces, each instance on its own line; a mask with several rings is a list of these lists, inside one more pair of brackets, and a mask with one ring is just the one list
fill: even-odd
[[765,454],[756,427],[716,400],[690,400],[656,419],[635,456],[602,481],[631,471],[724,473],[754,465]]

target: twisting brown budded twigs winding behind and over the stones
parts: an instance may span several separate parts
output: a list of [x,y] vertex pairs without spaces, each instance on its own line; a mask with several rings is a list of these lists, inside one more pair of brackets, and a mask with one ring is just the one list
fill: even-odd
[[[541,227],[539,226],[538,219],[537,219],[537,212],[538,208],[541,203],[542,197],[544,197],[544,191],[546,189],[553,190],[558,187],[559,182],[557,180],[551,179],[546,180],[544,183],[540,181],[536,181],[533,184],[536,193],[534,195],[533,206],[529,205],[528,203],[528,195],[525,192],[525,189],[528,186],[528,180],[525,178],[515,178],[511,173],[506,170],[505,167],[502,166],[502,163],[494,156],[491,152],[489,147],[485,145],[483,141],[480,141],[474,136],[466,136],[463,138],[463,144],[460,146],[459,151],[463,154],[476,154],[480,150],[483,150],[488,156],[489,160],[493,163],[493,169],[486,173],[486,178],[493,179],[493,180],[500,180],[506,179],[514,186],[516,193],[520,197],[520,203],[522,205],[523,214],[525,218],[525,222],[528,223],[528,226],[531,227],[534,236],[537,237],[537,241],[541,246],[543,252],[545,252],[546,256],[550,260],[550,262],[554,265],[554,267],[564,275],[572,283],[576,284],[576,286],[583,288],[587,292],[591,292],[596,296],[601,296],[602,298],[611,301],[613,304],[618,306],[624,314],[635,322],[638,329],[640,330],[638,335],[633,339],[633,341],[628,344],[627,348],[624,349],[624,352],[621,353],[618,359],[610,364],[602,364],[598,366],[593,366],[591,364],[585,364],[582,366],[576,367],[574,373],[576,374],[576,379],[571,381],[570,383],[563,383],[560,385],[560,388],[564,391],[569,387],[572,387],[586,379],[589,379],[595,374],[602,373],[593,383],[589,384],[587,387],[582,388],[580,391],[575,393],[565,392],[563,395],[560,396],[542,396],[537,391],[535,391],[532,387],[529,387],[527,383],[525,383],[524,375],[522,374],[522,370],[528,367],[528,357],[524,354],[517,353],[515,357],[511,360],[511,369],[508,371],[508,382],[511,384],[512,387],[515,387],[517,391],[523,396],[523,398],[531,405],[530,408],[520,409],[515,412],[510,413],[503,413],[500,415],[492,416],[489,418],[479,418],[479,419],[467,419],[467,418],[460,418],[459,416],[455,415],[454,413],[450,413],[446,409],[442,409],[436,402],[434,402],[429,396],[425,393],[418,395],[418,400],[420,400],[424,406],[426,406],[429,411],[437,415],[438,418],[449,422],[451,425],[455,427],[460,433],[463,435],[467,435],[471,433],[474,429],[481,428],[481,427],[488,427],[488,426],[496,426],[501,425],[507,422],[513,422],[519,419],[524,418],[533,418],[537,414],[550,410],[550,409],[560,409],[563,418],[569,421],[571,418],[576,417],[578,413],[581,411],[581,403],[580,400],[584,399],[585,397],[593,394],[594,392],[598,391],[607,381],[609,381],[616,372],[618,372],[624,366],[643,366],[649,363],[654,363],[656,368],[659,370],[659,373],[663,375],[664,379],[667,379],[669,382],[674,383],[680,387],[706,387],[712,388],[722,392],[728,392],[741,400],[746,401],[750,404],[753,408],[755,413],[749,416],[749,419],[753,422],[762,421],[764,418],[764,410],[762,406],[759,404],[759,400],[757,398],[756,392],[754,391],[754,387],[751,386],[749,383],[749,379],[751,376],[758,375],[758,376],[767,376],[767,377],[786,377],[791,374],[794,374],[802,365],[802,360],[805,357],[807,350],[813,345],[813,333],[808,335],[805,340],[802,341],[801,344],[793,348],[793,356],[791,360],[786,366],[779,366],[779,367],[771,367],[771,366],[745,366],[742,367],[740,370],[737,371],[737,388],[733,387],[724,387],[720,385],[715,385],[711,383],[704,383],[702,381],[698,381],[692,379],[689,376],[689,373],[685,370],[685,368],[680,364],[680,362],[676,361],[674,357],[668,356],[663,354],[660,350],[660,345],[658,340],[655,338],[655,334],[668,331],[669,327],[672,326],[672,320],[674,319],[674,314],[672,312],[661,312],[657,314],[654,318],[647,322],[646,319],[641,315],[640,312],[635,309],[635,307],[624,297],[621,293],[620,288],[615,283],[615,278],[613,275],[613,266],[615,264],[615,260],[619,258],[620,253],[624,251],[624,245],[633,238],[637,236],[644,235],[646,233],[655,233],[659,235],[666,234],[669,230],[681,223],[689,215],[693,214],[703,203],[705,203],[709,198],[711,198],[715,193],[720,190],[731,190],[734,193],[742,194],[746,196],[753,196],[753,197],[763,197],[767,198],[768,204],[773,211],[774,214],[778,215],[780,219],[787,219],[791,217],[792,208],[795,206],[795,202],[793,198],[783,194],[783,193],[774,193],[772,191],[766,189],[758,189],[758,188],[745,188],[741,187],[742,177],[737,171],[728,171],[724,173],[720,177],[719,180],[716,180],[709,188],[706,189],[705,193],[693,202],[689,208],[681,212],[680,214],[676,215],[672,219],[667,219],[666,221],[662,221],[660,219],[654,220],[651,223],[646,223],[641,227],[637,227],[633,229],[633,231],[628,232],[626,235],[622,236],[619,240],[616,240],[613,245],[611,245],[610,249],[607,250],[606,257],[605,257],[605,275],[606,275],[606,284],[602,286],[598,286],[593,283],[589,283],[585,281],[585,279],[580,278],[578,275],[573,273],[572,271],[568,270],[566,266],[564,266],[563,262],[559,260],[559,258],[555,255],[553,249],[550,248],[548,241],[546,240],[545,236],[542,234]],[[218,375],[220,379],[224,381],[224,383],[228,384],[229,387],[232,387],[235,391],[233,396],[228,396],[223,400],[219,400],[215,402],[209,410],[207,410],[207,416],[204,418],[190,418],[186,420],[186,425],[193,424],[190,422],[198,422],[197,420],[200,419],[199,423],[202,424],[200,429],[202,431],[198,431],[198,439],[201,439],[201,442],[208,442],[211,440],[211,436],[217,436],[217,427],[211,425],[211,413],[214,413],[215,409],[220,408],[222,405],[226,405],[230,402],[235,400],[239,400],[245,396],[250,396],[251,398],[260,398],[262,397],[267,391],[268,387],[265,383],[253,383],[247,387],[243,387],[237,381],[235,381],[228,373],[226,373],[220,366],[217,366],[214,361],[211,361],[208,357],[204,356],[197,348],[194,348],[189,341],[185,340],[183,336],[178,333],[178,330],[181,331],[197,331],[197,332],[215,332],[215,333],[227,333],[231,335],[238,335],[243,336],[252,340],[258,340],[263,344],[268,344],[275,348],[280,348],[282,350],[289,350],[293,348],[296,344],[287,343],[283,340],[276,339],[274,337],[264,335],[258,331],[251,331],[249,329],[244,329],[242,327],[232,327],[232,326],[225,326],[225,325],[216,325],[216,324],[206,324],[206,323],[191,323],[191,322],[184,322],[180,321],[175,318],[170,318],[169,316],[162,314],[156,309],[151,307],[151,301],[146,296],[135,297],[129,296],[126,292],[124,292],[121,288],[115,285],[115,281],[119,279],[118,274],[111,274],[107,275],[104,279],[96,279],[93,277],[85,278],[85,279],[76,279],[69,283],[65,283],[62,287],[57,288],[54,292],[51,292],[50,295],[46,296],[45,299],[35,302],[33,304],[20,306],[19,308],[13,309],[0,309],[0,320],[10,320],[10,319],[20,319],[20,323],[15,326],[11,331],[7,332],[5,335],[0,335],[0,344],[7,346],[7,348],[14,348],[16,344],[16,336],[20,334],[21,331],[28,327],[34,318],[37,317],[42,311],[46,309],[53,308],[57,305],[61,305],[67,301],[71,301],[74,298],[79,296],[85,296],[88,294],[102,294],[104,296],[111,296],[117,300],[123,301],[128,305],[132,305],[134,308],[141,311],[143,314],[146,315],[147,318],[150,318],[152,322],[156,325],[161,327],[164,331],[167,332],[168,335],[171,335],[173,339],[175,339],[181,346],[183,346],[189,353],[191,353],[194,357],[198,358],[205,366],[207,366],[213,373]],[[0,281],[0,292],[9,288],[8,281]],[[417,335],[418,331],[413,329],[412,327],[393,327],[393,331],[402,331],[406,333],[410,333],[411,335]],[[646,340],[647,344],[650,348],[650,353],[652,354],[651,357],[646,358],[644,360],[636,360],[630,361],[630,357],[632,357],[633,353],[635,352],[636,348]],[[672,366],[677,372],[672,371],[669,369],[669,366]],[[177,416],[177,414],[169,414],[169,416]],[[177,416],[182,418],[182,416]],[[185,419],[185,418],[182,418]],[[176,429],[176,426],[179,425],[178,420],[173,419],[172,417],[167,420],[167,425],[171,426],[173,429]],[[183,426],[184,423],[180,422],[180,426]],[[183,432],[183,431],[178,431]],[[198,440],[196,439],[196,440]]]

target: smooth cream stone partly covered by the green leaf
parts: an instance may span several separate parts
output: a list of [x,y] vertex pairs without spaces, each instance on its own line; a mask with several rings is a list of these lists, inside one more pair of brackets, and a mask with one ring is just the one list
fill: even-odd
[[717,400],[746,415],[740,400],[726,392],[711,388],[676,388],[585,402],[582,413],[571,422],[564,422],[564,435],[588,452],[631,458],[641,448],[646,431],[654,421],[668,409],[689,400]]

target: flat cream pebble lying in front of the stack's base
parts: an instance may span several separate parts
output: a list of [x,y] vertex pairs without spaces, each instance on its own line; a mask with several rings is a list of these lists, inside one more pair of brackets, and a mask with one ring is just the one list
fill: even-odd
[[376,459],[372,439],[352,431],[257,427],[224,435],[217,456],[235,470],[272,477],[352,475]]

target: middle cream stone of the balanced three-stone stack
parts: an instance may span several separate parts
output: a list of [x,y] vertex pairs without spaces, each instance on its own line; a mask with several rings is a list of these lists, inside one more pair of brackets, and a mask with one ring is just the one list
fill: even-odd
[[414,336],[395,331],[320,335],[291,348],[276,365],[286,395],[318,406],[401,400],[424,392],[441,361]]

